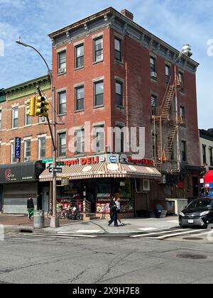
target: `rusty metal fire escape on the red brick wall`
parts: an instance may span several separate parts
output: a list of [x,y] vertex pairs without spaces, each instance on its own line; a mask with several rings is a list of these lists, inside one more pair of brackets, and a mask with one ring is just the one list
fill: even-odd
[[181,88],[178,75],[175,76],[173,83],[168,82],[168,87],[163,98],[162,105],[153,109],[153,128],[154,128],[154,160],[155,166],[161,170],[163,162],[169,162],[173,155],[175,136],[180,126],[180,116],[176,116],[171,109],[175,92]]

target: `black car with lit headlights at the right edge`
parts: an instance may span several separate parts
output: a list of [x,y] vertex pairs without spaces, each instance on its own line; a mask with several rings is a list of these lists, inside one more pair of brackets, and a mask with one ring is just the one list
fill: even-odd
[[207,227],[210,223],[213,223],[213,198],[195,199],[180,212],[179,224],[182,228]]

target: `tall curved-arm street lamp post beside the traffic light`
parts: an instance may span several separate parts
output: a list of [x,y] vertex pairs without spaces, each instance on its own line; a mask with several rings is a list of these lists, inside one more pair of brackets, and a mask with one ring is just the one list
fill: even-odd
[[[53,75],[52,71],[50,70],[50,67],[48,66],[48,63],[46,62],[43,55],[41,55],[36,48],[34,48],[32,45],[28,45],[26,43],[22,43],[20,38],[16,41],[18,45],[23,45],[24,47],[32,48],[35,50],[38,55],[42,58],[42,60],[45,62],[46,67],[48,68],[48,75],[50,75],[50,82],[51,82],[51,91],[52,91],[52,99],[53,99],[53,132],[51,130],[50,126],[50,120],[48,118],[48,125],[50,128],[52,143],[53,143],[53,168],[56,167],[56,158],[57,158],[57,146],[56,146],[56,116],[55,116],[55,87],[53,86]],[[53,214],[50,220],[50,228],[57,228],[59,226],[59,220],[56,214],[56,197],[57,197],[57,176],[56,172],[53,172]]]

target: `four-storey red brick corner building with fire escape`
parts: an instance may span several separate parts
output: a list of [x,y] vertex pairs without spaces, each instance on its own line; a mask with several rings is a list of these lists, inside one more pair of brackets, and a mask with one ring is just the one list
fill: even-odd
[[[104,189],[109,189],[107,199],[111,194],[122,197],[121,192],[125,191],[121,191],[119,185],[130,184],[133,209],[138,214],[155,209],[159,199],[165,205],[165,198],[196,197],[202,169],[197,133],[198,63],[192,60],[191,54],[182,55],[178,60],[180,51],[135,23],[132,13],[126,10],[119,13],[111,7],[50,33],[49,37],[53,42],[58,111],[65,123],[58,126],[58,152],[59,158],[65,160],[64,165],[79,165],[80,158],[89,155],[109,162],[111,153],[123,153],[125,144],[122,143],[125,142],[121,134],[115,137],[121,143],[120,150],[111,147],[107,128],[144,127],[144,158],[146,162],[154,160],[155,167],[162,173],[159,181],[154,167],[146,167],[149,172],[155,172],[153,177],[142,166],[139,170],[144,159],[133,160],[132,151],[125,153],[129,155],[128,164],[136,165],[135,175],[124,175],[131,178],[131,182],[119,180],[117,183],[116,175],[110,173],[111,180],[100,187],[104,167],[102,174],[99,171],[99,175],[94,175],[92,166],[86,169],[80,165],[70,169],[65,166],[63,175],[72,182],[70,187],[65,187],[67,196],[74,193],[73,189],[82,188],[82,197],[89,199],[92,192],[99,206],[100,197],[106,194]],[[87,121],[90,130],[93,128],[94,149],[86,152]],[[73,131],[75,152],[70,150]],[[95,177],[100,180],[95,181]],[[81,187],[72,181],[79,178],[83,180]],[[40,177],[40,181],[45,180],[51,180],[48,172]],[[111,188],[112,184],[118,184],[115,186],[118,190]],[[64,194],[61,192],[61,195]],[[77,196],[80,197],[78,190]]]

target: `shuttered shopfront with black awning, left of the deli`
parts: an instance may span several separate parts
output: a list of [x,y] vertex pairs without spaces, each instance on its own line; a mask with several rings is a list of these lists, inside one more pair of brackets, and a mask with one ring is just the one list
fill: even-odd
[[33,196],[37,205],[38,177],[45,169],[41,162],[0,165],[0,211],[5,214],[26,214],[26,202]]

